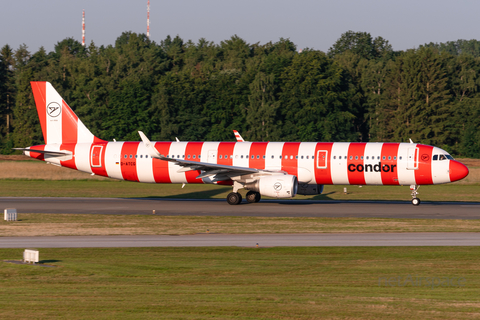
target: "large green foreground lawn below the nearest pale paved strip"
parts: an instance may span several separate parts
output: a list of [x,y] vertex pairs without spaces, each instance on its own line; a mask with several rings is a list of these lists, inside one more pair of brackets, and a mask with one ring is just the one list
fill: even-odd
[[[41,249],[55,268],[0,262],[0,317],[476,319],[479,254],[477,247]],[[0,249],[0,261],[21,255]],[[398,277],[400,284],[382,280]],[[454,284],[432,288],[419,277]]]

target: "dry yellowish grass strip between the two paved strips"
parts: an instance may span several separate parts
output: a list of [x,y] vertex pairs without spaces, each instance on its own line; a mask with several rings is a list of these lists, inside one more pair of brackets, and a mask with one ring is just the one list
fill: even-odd
[[[195,233],[478,232],[480,220],[279,218],[22,213],[0,221],[1,236]],[[1,237],[0,237],[1,239]]]

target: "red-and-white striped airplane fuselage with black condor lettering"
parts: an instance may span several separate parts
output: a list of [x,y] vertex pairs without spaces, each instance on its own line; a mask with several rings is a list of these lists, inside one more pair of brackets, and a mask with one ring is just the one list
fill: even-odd
[[[281,171],[309,185],[431,185],[464,178],[468,169],[444,150],[413,143],[154,142],[168,158]],[[49,144],[31,149],[71,156],[27,155],[83,172],[147,183],[233,183],[154,159],[143,142]]]

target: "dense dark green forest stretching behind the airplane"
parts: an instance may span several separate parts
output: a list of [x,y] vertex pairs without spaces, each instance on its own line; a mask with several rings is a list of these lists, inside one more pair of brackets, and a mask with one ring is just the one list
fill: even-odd
[[425,143],[480,157],[480,42],[394,51],[348,31],[328,52],[289,39],[219,44],[122,33],[0,51],[0,153],[43,144],[30,81],[49,81],[101,139]]

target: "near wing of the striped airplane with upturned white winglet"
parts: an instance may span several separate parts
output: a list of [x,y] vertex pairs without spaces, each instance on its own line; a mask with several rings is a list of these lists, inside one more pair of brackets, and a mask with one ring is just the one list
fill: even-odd
[[152,158],[174,162],[176,165],[182,167],[178,172],[187,172],[191,170],[201,170],[203,171],[197,179],[203,179],[209,176],[217,175],[215,180],[225,180],[225,178],[233,178],[238,176],[243,176],[247,174],[261,174],[267,173],[272,174],[273,171],[269,170],[260,170],[254,168],[245,168],[237,166],[228,166],[223,164],[208,163],[208,162],[197,162],[184,159],[174,159],[167,158],[164,155],[160,154],[153,143],[145,136],[142,131],[138,131],[140,137],[142,138],[143,143],[147,147],[148,153]]

